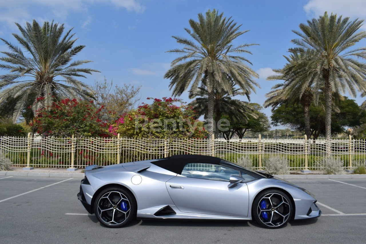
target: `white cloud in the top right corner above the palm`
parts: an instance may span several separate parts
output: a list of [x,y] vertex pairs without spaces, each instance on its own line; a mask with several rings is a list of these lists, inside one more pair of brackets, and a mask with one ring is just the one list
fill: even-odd
[[305,6],[306,14],[312,17],[323,15],[325,11],[328,13],[336,13],[344,17],[366,18],[366,1],[365,0],[310,0]]

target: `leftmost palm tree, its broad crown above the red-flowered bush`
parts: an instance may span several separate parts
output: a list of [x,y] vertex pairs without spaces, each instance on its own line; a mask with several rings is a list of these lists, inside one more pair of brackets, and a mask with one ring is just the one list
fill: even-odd
[[[35,20],[27,22],[23,28],[18,23],[21,35],[13,36],[20,47],[0,38],[9,52],[2,52],[1,69],[9,74],[0,75],[0,110],[7,112],[16,122],[23,114],[32,118],[39,108],[52,104],[62,98],[89,99],[88,85],[77,80],[84,74],[99,72],[93,69],[78,68],[89,60],[72,61],[85,46],[74,46],[70,29],[64,36],[64,25],[44,22],[40,26]],[[86,78],[86,77],[85,77]]]

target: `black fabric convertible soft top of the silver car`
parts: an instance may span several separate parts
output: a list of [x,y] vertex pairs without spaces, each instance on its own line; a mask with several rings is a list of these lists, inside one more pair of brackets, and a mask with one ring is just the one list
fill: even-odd
[[220,164],[220,162],[220,158],[206,155],[174,155],[169,158],[153,161],[151,163],[163,169],[172,171],[173,173],[182,174],[183,168],[187,163]]

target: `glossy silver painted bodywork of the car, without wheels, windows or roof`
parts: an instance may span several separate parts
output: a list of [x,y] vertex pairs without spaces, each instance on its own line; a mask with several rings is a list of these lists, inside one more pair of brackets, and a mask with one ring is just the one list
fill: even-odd
[[[135,196],[138,218],[251,220],[255,196],[265,189],[278,188],[294,200],[295,219],[319,215],[319,208],[314,205],[316,199],[290,182],[262,178],[229,188],[230,182],[188,178],[150,163],[153,161],[115,164],[100,169],[87,166],[85,175],[90,185],[81,185],[87,203],[91,204],[98,189],[117,184]],[[141,177],[139,184],[132,181],[135,175]],[[176,214],[154,215],[168,205]],[[307,215],[310,207],[312,211]]]

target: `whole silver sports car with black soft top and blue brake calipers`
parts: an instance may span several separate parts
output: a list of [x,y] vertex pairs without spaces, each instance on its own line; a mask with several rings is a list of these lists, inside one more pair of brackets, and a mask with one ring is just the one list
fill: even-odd
[[138,219],[254,219],[279,228],[320,216],[313,194],[226,160],[176,155],[85,168],[78,199],[107,227]]

